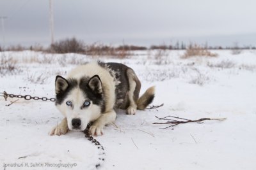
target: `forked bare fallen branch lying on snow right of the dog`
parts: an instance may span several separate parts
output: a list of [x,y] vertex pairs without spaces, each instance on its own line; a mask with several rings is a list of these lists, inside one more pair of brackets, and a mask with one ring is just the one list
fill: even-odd
[[173,127],[175,125],[179,125],[179,124],[186,124],[186,123],[198,123],[198,124],[202,124],[202,121],[205,120],[219,120],[219,121],[223,121],[226,120],[227,118],[200,118],[198,120],[189,120],[187,118],[179,118],[179,117],[172,117],[172,116],[168,116],[168,117],[163,117],[163,118],[158,118],[158,120],[167,120],[167,122],[155,122],[153,124],[171,124],[168,127],[164,127],[164,128],[160,128],[160,129],[167,129],[169,127]]

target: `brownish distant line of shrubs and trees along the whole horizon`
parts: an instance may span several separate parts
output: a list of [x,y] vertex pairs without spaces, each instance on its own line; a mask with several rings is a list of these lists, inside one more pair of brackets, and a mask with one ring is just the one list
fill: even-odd
[[[102,43],[93,43],[90,45],[85,44],[81,40],[77,40],[76,38],[67,38],[62,39],[60,41],[56,41],[51,46],[44,48],[41,45],[31,45],[31,46],[8,46],[7,48],[1,48],[0,51],[22,51],[22,50],[35,50],[35,51],[43,51],[43,52],[55,52],[55,53],[115,53],[120,51],[134,51],[134,50],[186,50],[189,48],[193,48],[193,45],[196,43],[189,43],[186,45],[183,41],[177,41],[174,45],[152,45],[150,47],[147,46],[136,46],[136,45],[120,45],[120,46],[112,46],[112,45],[104,45]],[[256,50],[255,46],[239,46],[238,43],[234,43],[233,46],[208,46],[207,43],[204,45],[200,45],[202,48],[207,50]]]

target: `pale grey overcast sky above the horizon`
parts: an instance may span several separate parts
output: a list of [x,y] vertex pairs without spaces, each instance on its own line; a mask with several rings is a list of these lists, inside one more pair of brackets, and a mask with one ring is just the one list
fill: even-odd
[[[52,0],[54,39],[256,45],[255,0]],[[49,0],[0,0],[7,45],[51,43]],[[3,31],[1,29],[3,43]]]

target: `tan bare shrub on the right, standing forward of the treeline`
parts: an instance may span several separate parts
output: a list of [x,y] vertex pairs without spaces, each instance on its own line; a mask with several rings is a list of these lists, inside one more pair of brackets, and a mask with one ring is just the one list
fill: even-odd
[[185,53],[181,56],[183,59],[188,59],[190,57],[204,56],[204,57],[217,57],[217,53],[212,53],[207,48],[195,44],[190,44],[186,49]]

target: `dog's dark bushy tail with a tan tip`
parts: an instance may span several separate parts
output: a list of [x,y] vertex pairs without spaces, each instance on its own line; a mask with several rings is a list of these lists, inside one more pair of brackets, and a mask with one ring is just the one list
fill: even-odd
[[146,92],[138,99],[137,109],[145,110],[148,104],[152,103],[155,97],[155,87],[150,87],[146,90]]

